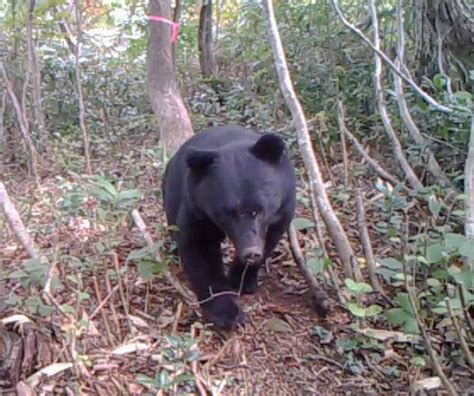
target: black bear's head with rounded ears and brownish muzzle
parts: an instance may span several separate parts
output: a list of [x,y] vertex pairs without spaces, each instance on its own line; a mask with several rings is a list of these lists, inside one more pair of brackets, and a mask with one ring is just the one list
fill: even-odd
[[255,143],[189,149],[186,162],[193,210],[230,238],[242,262],[260,262],[267,230],[280,220],[291,191],[293,173],[283,140],[265,134]]

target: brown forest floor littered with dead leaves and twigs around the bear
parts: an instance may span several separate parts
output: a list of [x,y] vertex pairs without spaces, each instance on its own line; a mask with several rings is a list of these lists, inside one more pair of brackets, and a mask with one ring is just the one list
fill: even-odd
[[[160,241],[164,235],[156,225],[165,222],[157,195],[160,176],[156,158],[140,148],[151,146],[125,142],[113,153],[104,152],[95,166],[100,164],[109,179],[134,183],[144,194],[138,208],[153,238]],[[332,300],[328,317],[319,318],[287,241],[278,246],[269,272],[262,271],[258,294],[242,298],[248,323],[220,334],[199,321],[199,311],[183,303],[165,278],[140,278],[137,266],[127,258],[145,242],[131,218],[111,227],[97,218],[66,216],[58,210],[65,194],[58,185],[77,184],[74,173],[64,169],[46,173],[41,192],[34,191],[34,183],[19,168],[9,168],[3,178],[36,246],[55,264],[61,286],[53,289],[53,297],[62,308],[45,311],[45,305],[51,307],[44,304],[41,289],[31,284],[33,270],[28,277],[11,276],[28,257],[5,231],[8,239],[1,249],[0,270],[10,275],[0,281],[0,297],[2,288],[9,297],[8,304],[0,301],[1,395],[14,394],[8,389],[17,380],[24,392],[20,394],[26,395],[31,389],[43,395],[150,394],[151,388],[140,384],[137,376],[155,378],[160,372],[176,379],[164,391],[171,394],[177,389],[180,394],[223,395],[393,394],[407,393],[415,376],[429,376],[430,370],[410,368],[406,342],[393,337],[359,342],[351,315],[336,301]],[[378,194],[372,186],[369,180],[363,186],[367,199]],[[339,200],[336,210],[361,255],[353,204]],[[423,213],[420,208],[418,215]],[[298,216],[310,218],[310,212],[300,205]],[[367,218],[372,228],[377,217],[368,213]],[[311,234],[300,233],[305,252],[314,248]],[[377,256],[387,254],[382,240],[374,238],[373,243]],[[329,241],[327,245],[332,251]],[[226,250],[230,255],[232,249]],[[185,282],[177,266],[171,271]],[[196,342],[190,347],[199,351],[196,362],[185,362],[181,355],[173,362],[163,360],[163,351],[170,346],[165,336],[170,334]],[[352,349],[347,347],[351,340],[359,342]],[[51,366],[54,363],[64,365]],[[38,374],[47,367],[49,371]],[[451,374],[464,383],[461,388],[473,389],[472,379],[463,371]],[[199,384],[199,392],[192,381]]]

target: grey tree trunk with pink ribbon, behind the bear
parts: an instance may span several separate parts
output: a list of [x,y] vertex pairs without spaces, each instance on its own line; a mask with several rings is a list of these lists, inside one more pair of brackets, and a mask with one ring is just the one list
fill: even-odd
[[[150,0],[150,15],[170,18],[170,0]],[[171,26],[150,21],[148,39],[148,94],[160,137],[169,154],[193,135],[188,112],[178,91],[171,51]]]

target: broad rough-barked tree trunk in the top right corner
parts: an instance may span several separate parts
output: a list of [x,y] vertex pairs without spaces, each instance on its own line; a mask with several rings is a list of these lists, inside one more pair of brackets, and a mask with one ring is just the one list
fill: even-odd
[[418,79],[439,72],[434,54],[440,39],[445,55],[454,56],[465,71],[474,68],[474,7],[465,0],[415,0],[415,29]]

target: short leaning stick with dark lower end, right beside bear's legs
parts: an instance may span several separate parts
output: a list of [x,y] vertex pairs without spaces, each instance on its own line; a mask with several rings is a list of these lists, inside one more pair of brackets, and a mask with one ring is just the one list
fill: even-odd
[[319,316],[325,317],[329,313],[329,298],[323,290],[319,287],[318,283],[316,282],[315,277],[309,270],[308,266],[306,265],[306,260],[303,256],[303,252],[301,251],[300,244],[298,241],[298,233],[293,225],[290,225],[288,230],[288,236],[290,240],[290,249],[291,254],[293,255],[293,259],[295,260],[298,268],[305,279],[309,291],[314,297],[314,307],[316,312]]

